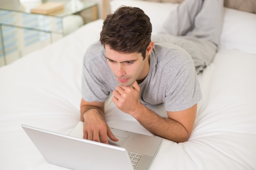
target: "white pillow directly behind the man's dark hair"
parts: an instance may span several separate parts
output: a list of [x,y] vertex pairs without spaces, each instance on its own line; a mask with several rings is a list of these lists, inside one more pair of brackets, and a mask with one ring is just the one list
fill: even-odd
[[120,6],[138,7],[142,9],[146,15],[150,18],[152,24],[152,34],[157,34],[162,27],[162,24],[167,19],[171,10],[177,8],[177,3],[161,3],[161,2],[150,2],[142,0],[112,0],[110,1],[110,10],[113,13]]

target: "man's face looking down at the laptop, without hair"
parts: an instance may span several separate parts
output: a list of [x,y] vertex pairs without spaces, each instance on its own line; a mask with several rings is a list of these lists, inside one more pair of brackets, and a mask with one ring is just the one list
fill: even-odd
[[[135,80],[144,79],[149,71],[149,63],[141,53],[119,53],[105,45],[106,59],[120,86],[130,86]],[[146,62],[145,62],[146,61]],[[148,65],[148,66],[147,66]]]

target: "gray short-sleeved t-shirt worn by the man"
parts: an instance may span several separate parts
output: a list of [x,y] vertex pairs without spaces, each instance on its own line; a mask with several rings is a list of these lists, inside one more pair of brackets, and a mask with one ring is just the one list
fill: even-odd
[[[100,42],[92,44],[85,53],[82,97],[87,102],[105,102],[119,85],[105,55]],[[164,103],[166,111],[188,109],[202,98],[189,53],[164,42],[155,42],[150,54],[150,71],[139,86],[142,104]]]

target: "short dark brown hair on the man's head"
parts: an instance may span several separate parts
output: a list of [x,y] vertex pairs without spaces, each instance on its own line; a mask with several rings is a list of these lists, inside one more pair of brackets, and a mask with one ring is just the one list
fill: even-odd
[[122,6],[115,13],[107,15],[100,33],[100,42],[121,53],[142,53],[145,58],[151,32],[150,19],[143,10]]

